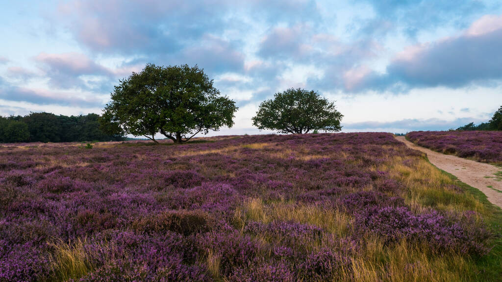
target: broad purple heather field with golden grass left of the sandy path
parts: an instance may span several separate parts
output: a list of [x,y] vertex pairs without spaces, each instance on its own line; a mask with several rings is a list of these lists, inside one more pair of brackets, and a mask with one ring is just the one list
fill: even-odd
[[388,133],[0,147],[0,282],[494,280],[500,220]]

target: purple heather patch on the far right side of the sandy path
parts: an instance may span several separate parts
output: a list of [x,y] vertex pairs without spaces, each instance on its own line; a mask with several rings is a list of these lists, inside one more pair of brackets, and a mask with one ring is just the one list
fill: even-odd
[[444,154],[502,165],[502,131],[413,131],[406,137]]

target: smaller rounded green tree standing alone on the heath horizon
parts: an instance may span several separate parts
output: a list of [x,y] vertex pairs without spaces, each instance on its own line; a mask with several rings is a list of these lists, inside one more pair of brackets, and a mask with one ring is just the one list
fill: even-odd
[[340,131],[343,115],[316,91],[290,88],[260,104],[253,125],[281,133]]

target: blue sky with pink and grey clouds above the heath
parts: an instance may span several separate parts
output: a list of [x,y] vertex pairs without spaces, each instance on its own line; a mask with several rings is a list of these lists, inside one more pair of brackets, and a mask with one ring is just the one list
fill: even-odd
[[445,130],[502,105],[502,3],[407,0],[0,0],[0,115],[102,112],[147,63],[197,64],[235,125],[288,88],[350,131]]

